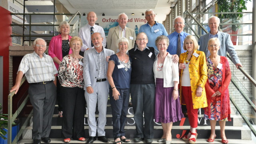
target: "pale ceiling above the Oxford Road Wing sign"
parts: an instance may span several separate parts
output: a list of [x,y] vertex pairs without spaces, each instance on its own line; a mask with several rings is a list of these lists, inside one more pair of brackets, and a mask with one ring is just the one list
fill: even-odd
[[172,2],[177,0],[59,0],[60,3],[70,12],[86,13],[96,12],[98,16],[103,13],[105,16],[118,16],[124,12],[129,16],[141,16],[147,9],[154,10],[155,20],[162,23],[166,15],[170,14]]

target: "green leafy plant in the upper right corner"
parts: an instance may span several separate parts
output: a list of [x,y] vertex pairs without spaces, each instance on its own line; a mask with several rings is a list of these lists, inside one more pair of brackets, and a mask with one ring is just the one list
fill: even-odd
[[[243,10],[247,10],[246,4],[251,0],[218,0],[218,12],[243,12]],[[230,18],[232,19],[232,23],[239,23],[240,18],[242,18],[243,14],[218,14],[218,18]],[[232,25],[232,30],[236,31],[237,26]]]

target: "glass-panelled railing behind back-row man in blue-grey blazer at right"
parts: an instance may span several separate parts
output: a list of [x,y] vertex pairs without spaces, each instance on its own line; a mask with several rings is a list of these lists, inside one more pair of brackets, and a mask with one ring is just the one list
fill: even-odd
[[[210,32],[208,18],[218,14],[230,14],[231,12],[184,12],[186,25],[184,31],[196,36]],[[252,12],[238,12],[243,14],[239,23],[232,23],[230,19],[220,19],[220,31],[230,34],[231,41],[234,45],[251,45],[252,44]]]

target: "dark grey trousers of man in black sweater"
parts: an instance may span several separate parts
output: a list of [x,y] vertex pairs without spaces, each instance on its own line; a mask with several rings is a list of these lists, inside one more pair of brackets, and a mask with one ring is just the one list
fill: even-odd
[[[154,138],[155,84],[130,84],[130,93],[136,137]],[[143,125],[144,122],[145,126]]]

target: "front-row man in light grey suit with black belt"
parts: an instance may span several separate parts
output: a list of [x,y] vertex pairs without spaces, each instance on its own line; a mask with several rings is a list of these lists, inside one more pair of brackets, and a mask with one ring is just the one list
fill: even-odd
[[[103,48],[103,37],[95,32],[91,36],[94,48],[84,52],[84,90],[88,108],[89,135],[87,143],[93,143],[98,131],[98,140],[109,142],[105,137],[106,111],[108,102],[109,83],[107,80],[108,63],[106,56],[111,56],[114,51]],[[98,100],[98,126],[95,121],[95,110]]]

